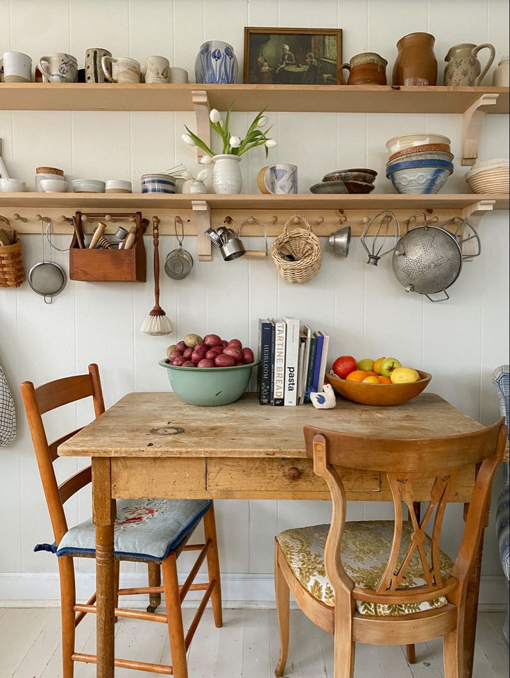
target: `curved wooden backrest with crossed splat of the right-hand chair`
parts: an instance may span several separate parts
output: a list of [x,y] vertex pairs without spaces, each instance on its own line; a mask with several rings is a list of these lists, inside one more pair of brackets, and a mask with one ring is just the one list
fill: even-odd
[[[366,438],[340,431],[305,427],[307,455],[314,459],[314,471],[325,479],[332,495],[333,513],[325,546],[325,565],[335,596],[343,596],[344,604],[348,599],[352,602],[350,592],[354,582],[349,583],[341,564],[341,533],[346,515],[346,495],[334,466],[386,473],[393,495],[393,542],[379,584],[373,591],[364,589],[363,597],[365,600],[368,597],[376,604],[377,602],[385,604],[391,596],[394,604],[400,604],[432,600],[445,592],[440,568],[439,543],[450,488],[457,469],[468,464],[480,465],[464,528],[464,538],[452,572],[458,583],[453,593],[451,582],[447,587],[449,600],[450,598],[454,600],[458,595],[457,589],[461,590],[467,583],[484,522],[493,476],[504,454],[506,431],[503,417],[491,427],[475,433],[424,440]],[[413,481],[424,478],[432,479],[432,488],[423,519],[418,522],[414,511],[416,499]],[[404,524],[402,505],[407,507],[411,520],[411,545],[407,550],[402,549]],[[431,547],[430,554],[427,555],[425,529],[431,520]],[[406,572],[416,557],[420,569],[423,570],[418,577],[425,584],[409,588]],[[413,598],[414,590],[416,601]]]

